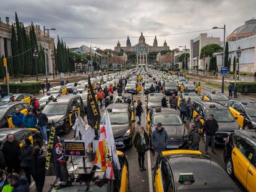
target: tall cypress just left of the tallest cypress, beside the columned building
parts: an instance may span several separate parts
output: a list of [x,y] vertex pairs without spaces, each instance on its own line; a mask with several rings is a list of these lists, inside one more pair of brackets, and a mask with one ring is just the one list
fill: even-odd
[[12,44],[12,61],[14,65],[14,75],[20,74],[20,52],[19,46],[16,39],[16,34],[14,30],[14,25],[12,25],[12,36],[11,36],[11,44]]

